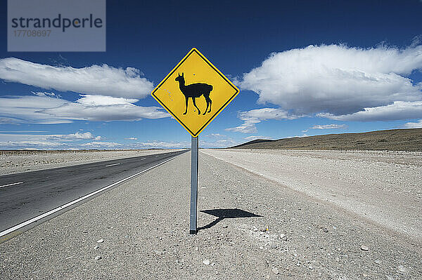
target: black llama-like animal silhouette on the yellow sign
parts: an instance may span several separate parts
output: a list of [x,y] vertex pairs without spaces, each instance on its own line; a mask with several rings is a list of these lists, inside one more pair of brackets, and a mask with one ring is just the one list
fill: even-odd
[[[212,91],[211,85],[204,84],[204,83],[196,83],[196,84],[190,84],[186,86],[183,72],[181,73],[181,75],[180,74],[177,75],[177,78],[175,79],[175,81],[179,82],[180,91],[181,93],[183,93],[183,95],[185,95],[186,106],[185,106],[185,112],[183,114],[186,114],[188,112],[189,98],[192,98],[193,106],[195,106],[196,109],[198,109],[198,114],[200,114],[200,109],[198,108],[198,106],[196,106],[195,99],[200,98],[201,95],[204,95],[205,101],[207,102],[207,109],[205,109],[205,112],[203,113],[203,115],[211,112],[211,104],[212,104],[212,101],[210,98],[210,93]],[[208,107],[210,107],[209,110],[208,110]]]

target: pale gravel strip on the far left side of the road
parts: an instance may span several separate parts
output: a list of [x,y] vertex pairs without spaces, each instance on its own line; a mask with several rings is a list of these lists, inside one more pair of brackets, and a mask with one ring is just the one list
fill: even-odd
[[175,152],[177,149],[151,149],[130,151],[67,152],[58,154],[2,154],[0,156],[0,175],[36,171],[40,169],[90,164],[98,161],[124,159],[150,154]]

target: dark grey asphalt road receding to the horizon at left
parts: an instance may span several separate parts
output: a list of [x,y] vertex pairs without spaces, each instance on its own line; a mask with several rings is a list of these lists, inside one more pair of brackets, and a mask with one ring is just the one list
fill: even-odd
[[187,150],[0,176],[0,232]]

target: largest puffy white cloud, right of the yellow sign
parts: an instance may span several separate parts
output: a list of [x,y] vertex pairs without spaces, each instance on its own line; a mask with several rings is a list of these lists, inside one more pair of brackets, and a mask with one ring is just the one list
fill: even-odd
[[[244,74],[240,85],[260,95],[258,102],[271,102],[295,114],[343,116],[398,101],[421,101],[422,84],[407,78],[420,69],[422,46],[308,46],[272,53],[260,67]],[[371,119],[369,113],[359,117],[359,121]]]

